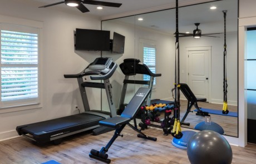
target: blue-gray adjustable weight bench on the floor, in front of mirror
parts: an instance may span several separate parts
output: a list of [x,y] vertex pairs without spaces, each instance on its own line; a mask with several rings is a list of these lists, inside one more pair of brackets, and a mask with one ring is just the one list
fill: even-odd
[[[122,112],[121,116],[116,116],[112,118],[108,118],[106,120],[102,120],[99,122],[101,126],[106,126],[110,128],[115,128],[114,136],[111,138],[109,143],[107,143],[106,147],[102,147],[100,151],[91,150],[89,156],[95,158],[96,160],[100,160],[102,162],[110,163],[111,160],[108,158],[106,152],[109,150],[112,143],[115,142],[116,138],[121,135],[121,131],[124,129],[126,125],[130,126],[133,130],[138,132],[137,137],[146,138],[148,140],[156,141],[157,138],[146,136],[142,133],[136,124],[136,114],[140,110],[142,103],[146,100],[147,96],[150,94],[150,88],[139,88],[139,90],[135,93],[134,97],[132,97],[129,104],[126,106],[125,110]],[[134,126],[130,124],[130,121],[134,120]]]

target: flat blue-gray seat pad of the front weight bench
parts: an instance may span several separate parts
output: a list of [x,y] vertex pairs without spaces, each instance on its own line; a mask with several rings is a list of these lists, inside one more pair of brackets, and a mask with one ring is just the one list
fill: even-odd
[[116,117],[112,117],[112,118],[107,118],[106,120],[101,120],[99,122],[99,125],[111,127],[111,128],[117,128],[120,125],[124,125],[130,121],[131,121],[130,118],[116,116]]

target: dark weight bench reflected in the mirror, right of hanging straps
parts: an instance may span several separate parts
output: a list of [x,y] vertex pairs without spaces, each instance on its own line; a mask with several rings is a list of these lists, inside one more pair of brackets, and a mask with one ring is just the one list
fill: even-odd
[[189,112],[191,111],[191,108],[194,106],[197,110],[196,115],[200,116],[210,116],[208,112],[204,112],[201,110],[200,107],[198,107],[198,102],[205,102],[206,98],[196,98],[194,93],[190,90],[189,86],[185,83],[180,83],[180,91],[183,93],[183,95],[188,100],[188,107],[186,109],[186,113],[183,116],[182,120],[180,121],[181,125],[190,125],[188,122],[184,122],[186,119],[186,116],[188,116]]

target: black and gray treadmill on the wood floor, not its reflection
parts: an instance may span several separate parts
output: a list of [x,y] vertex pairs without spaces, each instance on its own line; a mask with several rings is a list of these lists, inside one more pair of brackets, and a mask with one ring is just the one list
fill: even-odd
[[[99,135],[112,130],[105,129],[105,127],[100,127],[99,121],[116,116],[115,103],[112,101],[112,86],[109,80],[116,68],[117,64],[112,62],[112,58],[99,57],[78,74],[64,74],[65,78],[77,78],[85,112],[77,115],[55,118],[53,120],[17,126],[16,131],[20,136],[22,135],[27,137],[33,141],[36,141],[37,143],[42,144],[52,141],[53,144],[58,145],[61,143],[63,137],[74,135],[83,131],[94,129],[93,135]],[[90,76],[92,80],[101,80],[101,82],[84,82],[83,77],[85,76]],[[85,90],[86,87],[106,90],[110,112],[102,110],[90,110]]]

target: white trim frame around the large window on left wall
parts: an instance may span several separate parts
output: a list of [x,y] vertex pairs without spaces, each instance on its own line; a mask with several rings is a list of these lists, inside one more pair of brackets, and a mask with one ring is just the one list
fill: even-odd
[[[38,97],[15,101],[0,101],[0,113],[8,113],[22,110],[31,110],[35,108],[42,108],[42,69],[40,61],[40,54],[42,52],[42,27],[43,23],[38,21],[31,21],[28,19],[14,18],[0,15],[0,31],[17,31],[17,32],[32,32],[35,31],[38,34]],[[1,47],[1,42],[0,42]],[[2,66],[2,64],[1,64]],[[4,66],[4,64],[3,64]],[[0,76],[1,78],[1,76]],[[0,87],[1,89],[1,87]]]

